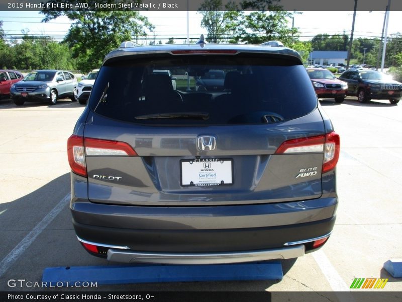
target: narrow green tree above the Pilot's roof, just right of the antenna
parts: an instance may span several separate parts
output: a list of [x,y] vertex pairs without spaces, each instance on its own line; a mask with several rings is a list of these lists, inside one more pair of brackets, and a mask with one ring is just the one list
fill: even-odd
[[224,7],[222,0],[206,0],[198,11],[203,16],[201,27],[207,30],[207,41],[210,43],[230,39],[236,32],[239,19],[244,16],[234,3],[229,2]]

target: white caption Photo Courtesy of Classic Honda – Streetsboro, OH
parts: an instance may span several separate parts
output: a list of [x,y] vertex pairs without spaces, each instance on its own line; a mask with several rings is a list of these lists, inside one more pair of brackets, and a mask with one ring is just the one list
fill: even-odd
[[108,294],[107,296],[102,297],[100,294],[66,294],[66,293],[57,293],[57,294],[11,294],[7,295],[8,300],[101,300],[102,298],[107,298],[108,300],[115,299],[124,299],[124,300],[153,300],[155,299],[154,294],[147,294],[146,296],[142,296],[140,294]]

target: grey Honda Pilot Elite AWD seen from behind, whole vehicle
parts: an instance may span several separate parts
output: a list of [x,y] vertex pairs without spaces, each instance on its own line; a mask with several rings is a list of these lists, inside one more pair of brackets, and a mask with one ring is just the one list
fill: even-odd
[[[209,70],[224,87],[197,91]],[[338,157],[297,52],[125,42],[68,139],[74,229],[117,262],[299,257],[333,229]]]

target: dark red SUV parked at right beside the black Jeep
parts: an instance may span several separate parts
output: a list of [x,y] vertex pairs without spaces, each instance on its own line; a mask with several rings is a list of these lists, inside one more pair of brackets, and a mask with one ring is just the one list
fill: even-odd
[[335,99],[337,103],[345,100],[348,84],[338,80],[331,71],[324,68],[307,68],[307,73],[320,99]]

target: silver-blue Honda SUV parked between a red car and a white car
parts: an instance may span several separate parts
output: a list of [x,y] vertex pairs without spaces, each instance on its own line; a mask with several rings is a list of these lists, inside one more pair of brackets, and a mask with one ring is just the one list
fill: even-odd
[[65,70],[36,70],[29,73],[24,80],[14,84],[11,98],[18,106],[25,102],[47,102],[55,105],[57,99],[70,98],[75,101],[77,79],[72,72]]

